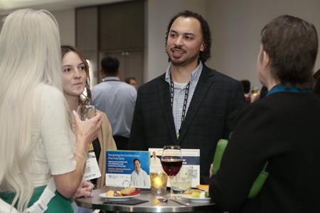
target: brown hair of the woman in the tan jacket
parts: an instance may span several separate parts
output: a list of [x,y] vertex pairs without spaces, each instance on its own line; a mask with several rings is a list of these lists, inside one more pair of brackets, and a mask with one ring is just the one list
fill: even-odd
[[[87,92],[87,96],[82,94],[79,96],[80,105],[88,105],[91,103],[91,89],[90,89],[90,75],[89,75],[89,65],[87,64],[87,60],[85,60],[85,56],[82,55],[78,48],[71,45],[61,45],[61,57],[65,56],[65,53],[75,52],[79,55],[79,58],[85,64],[85,74],[87,75],[87,80],[85,81],[85,90]],[[83,98],[84,97],[84,98]]]

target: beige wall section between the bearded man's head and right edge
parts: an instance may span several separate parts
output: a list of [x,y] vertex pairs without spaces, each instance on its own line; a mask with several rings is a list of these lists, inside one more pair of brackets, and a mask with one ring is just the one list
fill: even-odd
[[[277,16],[287,14],[314,24],[320,35],[320,1],[214,0],[208,1],[208,22],[213,35],[209,67],[231,77],[260,85],[256,74],[260,32]],[[316,70],[320,67],[316,60]]]

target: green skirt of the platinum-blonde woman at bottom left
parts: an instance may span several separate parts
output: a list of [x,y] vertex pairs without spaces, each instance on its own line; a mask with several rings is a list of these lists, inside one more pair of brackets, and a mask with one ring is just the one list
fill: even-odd
[[[33,190],[33,195],[31,197],[31,200],[28,204],[28,207],[31,207],[34,202],[39,200],[43,190],[46,188],[46,186],[42,187],[36,187]],[[14,197],[16,196],[15,192],[11,193],[4,193],[0,192],[0,197],[5,202],[11,204],[14,200]],[[17,205],[16,205],[17,206]],[[15,207],[16,207],[15,206]],[[55,197],[53,197],[50,202],[48,203],[48,209],[46,210],[46,213],[73,213],[73,207],[71,207],[70,201],[59,194],[57,190],[55,190]]]

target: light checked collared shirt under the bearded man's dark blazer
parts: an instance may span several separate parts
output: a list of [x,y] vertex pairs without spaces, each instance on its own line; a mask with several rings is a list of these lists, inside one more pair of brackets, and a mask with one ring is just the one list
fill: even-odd
[[[196,86],[198,84],[199,77],[201,75],[203,65],[202,62],[199,63],[198,67],[196,70],[193,70],[191,72],[190,76],[190,87],[189,87],[189,94],[188,94],[188,102],[186,104],[186,115],[188,112],[188,108],[191,102],[191,99],[193,97],[193,93],[196,90]],[[166,82],[169,83],[170,87],[170,74],[171,74],[171,64],[169,65],[168,69],[166,69]],[[186,86],[187,84],[184,85],[183,88],[181,88],[176,82],[174,82],[174,104],[172,107],[172,114],[174,115],[174,125],[176,126],[176,135],[179,135],[179,129],[181,127],[181,116],[182,116],[182,108],[183,108],[183,101],[184,97],[186,94]],[[169,89],[170,92],[170,89]]]

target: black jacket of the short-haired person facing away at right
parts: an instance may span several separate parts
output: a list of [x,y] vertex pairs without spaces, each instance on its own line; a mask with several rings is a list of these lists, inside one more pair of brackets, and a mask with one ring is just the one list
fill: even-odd
[[[312,92],[275,92],[247,105],[235,120],[210,197],[228,212],[320,212],[320,99]],[[255,199],[253,182],[269,161]]]

